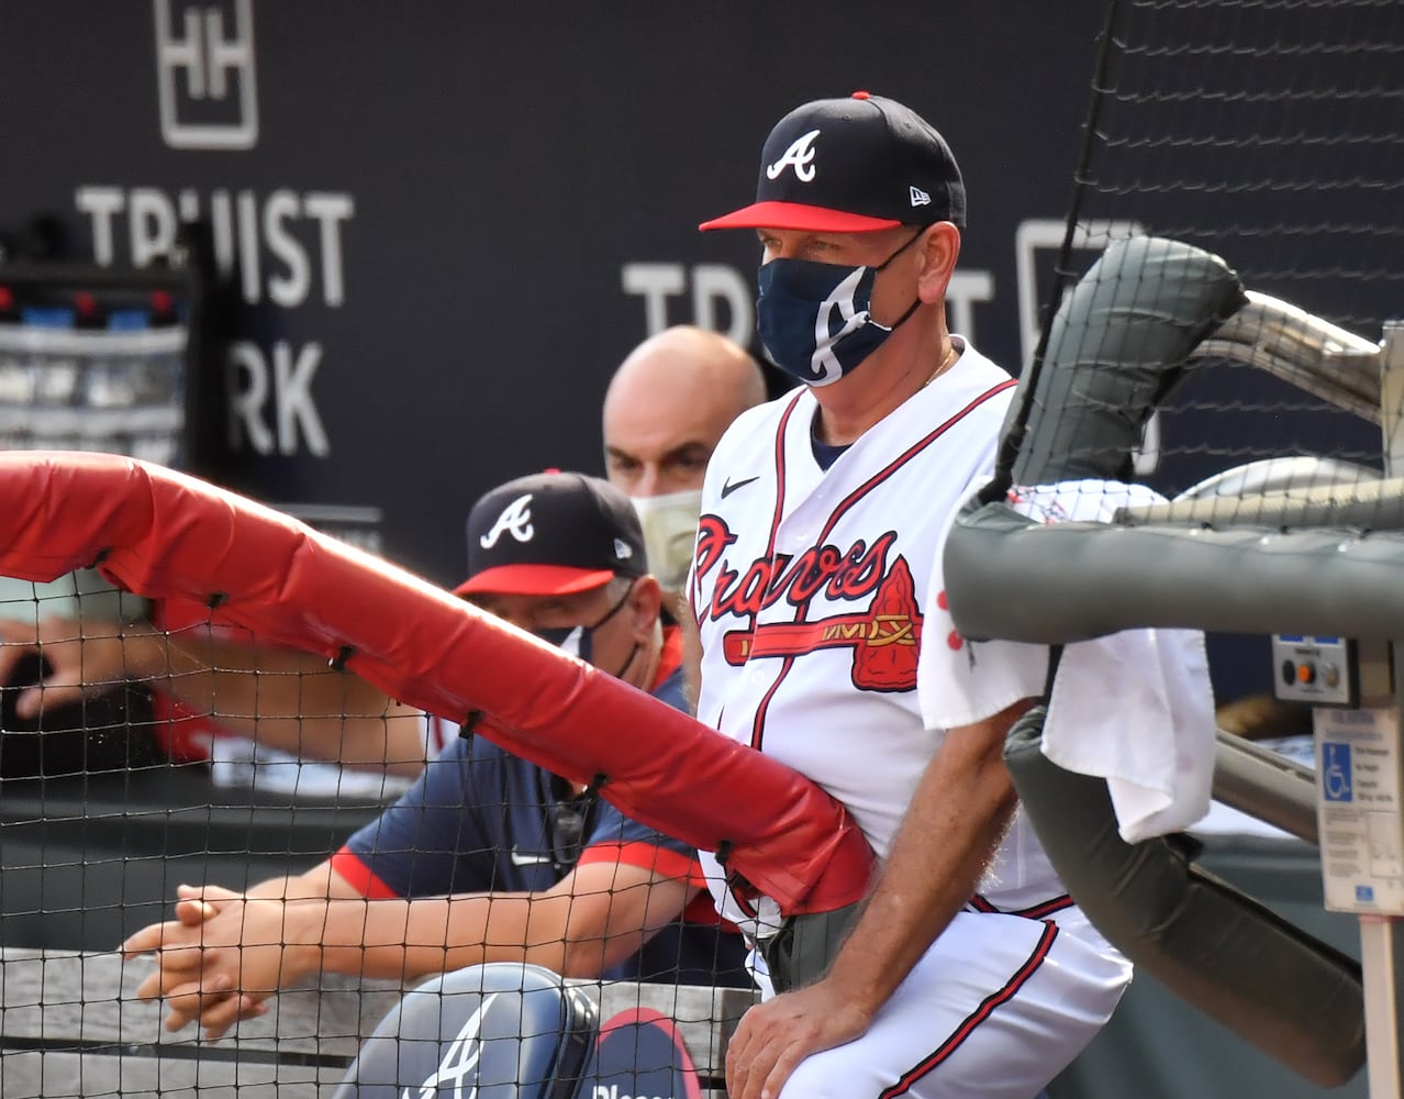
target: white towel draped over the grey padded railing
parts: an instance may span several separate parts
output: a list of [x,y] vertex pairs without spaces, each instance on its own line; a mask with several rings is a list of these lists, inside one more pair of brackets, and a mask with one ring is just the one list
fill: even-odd
[[[1144,486],[1108,481],[1011,493],[1016,510],[1043,523],[1106,521],[1118,507],[1158,500]],[[1009,594],[1018,597],[1016,586]],[[924,635],[953,637],[945,600],[939,592],[931,596]],[[953,728],[1040,696],[1046,677],[1043,645],[965,641],[959,648],[922,645],[917,689],[925,724]],[[1106,779],[1118,829],[1127,843],[1202,818],[1209,811],[1214,767],[1213,691],[1203,634],[1129,630],[1067,645],[1043,728],[1043,755],[1067,770]]]

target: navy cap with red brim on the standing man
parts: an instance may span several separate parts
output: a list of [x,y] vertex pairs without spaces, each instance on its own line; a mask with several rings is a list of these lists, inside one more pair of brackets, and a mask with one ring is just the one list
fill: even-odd
[[965,228],[965,181],[946,139],[910,107],[855,91],[776,122],[755,201],[698,228],[862,233],[938,221]]

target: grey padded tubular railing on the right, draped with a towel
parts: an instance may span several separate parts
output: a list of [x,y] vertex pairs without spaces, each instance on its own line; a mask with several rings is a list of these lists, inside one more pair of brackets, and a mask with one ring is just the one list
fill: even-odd
[[[1061,302],[1042,370],[1021,381],[1007,430],[1012,462],[952,531],[946,585],[965,637],[1061,646],[1185,627],[1396,641],[1404,621],[1398,481],[1369,472],[1342,481],[1339,469],[1309,462],[1316,472],[1303,479],[1299,471],[1287,485],[1259,478],[1268,490],[1257,496],[1123,510],[1109,524],[1038,524],[1004,502],[1009,485],[1125,479],[1146,419],[1188,371],[1226,357],[1379,422],[1386,474],[1397,468],[1404,327],[1387,325],[1370,344],[1247,294],[1200,249],[1113,243]],[[1000,597],[1015,575],[1043,582],[1022,586],[1019,599]],[[1389,707],[1393,698],[1362,701]],[[1372,1093],[1398,1095],[1398,913],[1383,906],[1362,919],[1356,965],[1198,873],[1174,839],[1122,843],[1105,783],[1053,766],[1039,734],[1036,718],[1011,734],[1011,773],[1070,892],[1104,933],[1310,1078],[1344,1082],[1367,1051]],[[1247,769],[1226,759],[1241,780]],[[1272,801],[1251,781],[1237,793],[1233,781],[1217,788],[1248,808]],[[1283,819],[1300,825],[1300,788],[1289,780],[1279,794]],[[1387,808],[1397,829],[1398,807]]]

